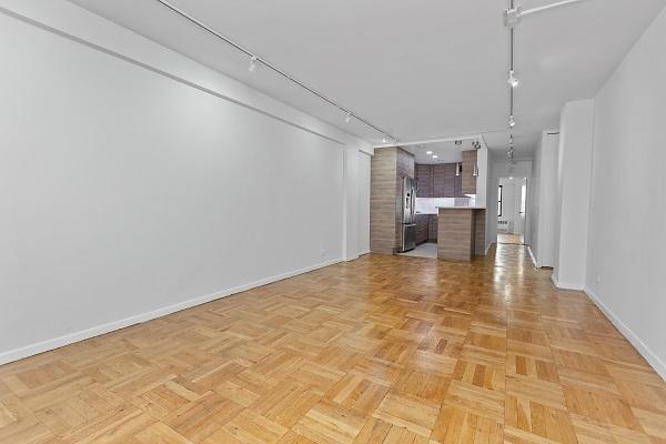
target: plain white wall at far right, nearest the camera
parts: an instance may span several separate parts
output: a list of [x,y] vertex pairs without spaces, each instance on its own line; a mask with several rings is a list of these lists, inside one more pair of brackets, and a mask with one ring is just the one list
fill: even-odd
[[664,379],[665,42],[666,10],[596,97],[585,279],[588,294]]

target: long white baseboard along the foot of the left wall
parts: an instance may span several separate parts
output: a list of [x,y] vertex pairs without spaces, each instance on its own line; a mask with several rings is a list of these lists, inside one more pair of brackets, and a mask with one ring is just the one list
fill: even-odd
[[91,329],[80,330],[78,332],[69,333],[51,340],[38,342],[34,344],[26,345],[20,349],[10,350],[0,353],[0,365],[7,364],[13,361],[19,361],[24,357],[33,356],[39,353],[48,352],[51,350],[60,349],[61,346],[73,344],[74,342],[88,340],[90,337],[99,336],[105,333],[113,332],[115,330],[124,329],[130,325],[135,325],[142,322],[147,322],[157,317],[165,316],[182,310],[191,309],[196,305],[205,304],[218,299],[231,296],[232,294],[241,293],[248,290],[255,289],[258,286],[266,285],[273,282],[282,281],[284,279],[293,278],[299,274],[307,273],[314,270],[323,269],[325,266],[334,265],[342,262],[342,259],[335,259],[326,262],[322,262],[312,266],[307,266],[301,270],[291,271],[287,273],[279,274],[275,276],[254,281],[244,285],[235,286],[219,291],[216,293],[206,294],[204,296],[194,297],[188,301],[179,302],[173,305],[168,305],[153,310],[145,313],[135,314],[119,321],[109,322],[102,325],[97,325]]

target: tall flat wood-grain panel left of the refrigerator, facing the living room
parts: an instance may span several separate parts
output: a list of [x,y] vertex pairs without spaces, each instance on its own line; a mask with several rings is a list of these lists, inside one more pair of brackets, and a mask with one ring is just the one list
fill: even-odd
[[370,172],[370,251],[373,253],[394,252],[396,167],[396,148],[375,150]]

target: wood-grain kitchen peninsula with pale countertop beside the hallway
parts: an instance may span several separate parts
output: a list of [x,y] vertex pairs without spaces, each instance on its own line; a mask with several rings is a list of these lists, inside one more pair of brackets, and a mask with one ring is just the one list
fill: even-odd
[[437,206],[437,258],[471,261],[485,255],[485,208]]

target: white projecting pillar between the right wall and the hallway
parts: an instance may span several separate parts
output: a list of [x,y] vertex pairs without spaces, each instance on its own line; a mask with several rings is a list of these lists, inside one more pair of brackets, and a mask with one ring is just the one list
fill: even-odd
[[559,125],[553,281],[559,287],[583,290],[587,258],[594,100],[566,103]]

